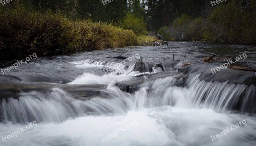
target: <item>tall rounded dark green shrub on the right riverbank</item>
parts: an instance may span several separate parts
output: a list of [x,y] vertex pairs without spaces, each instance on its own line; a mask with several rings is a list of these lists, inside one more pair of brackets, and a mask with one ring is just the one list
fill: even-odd
[[[207,21],[212,24],[214,29],[211,26],[204,27],[203,39],[218,43],[242,42],[242,12],[236,9],[237,7],[238,4],[236,2],[229,2],[214,8],[207,18]],[[212,33],[212,31],[215,33]]]

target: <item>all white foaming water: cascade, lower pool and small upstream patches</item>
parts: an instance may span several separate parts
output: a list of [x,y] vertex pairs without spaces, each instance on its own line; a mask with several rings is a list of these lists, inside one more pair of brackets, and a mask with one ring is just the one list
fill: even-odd
[[[99,64],[77,65],[90,69]],[[2,107],[9,120],[16,123],[15,119],[29,121],[33,117],[38,126],[7,142],[0,142],[0,145],[250,146],[256,143],[256,118],[229,113],[229,106],[233,104],[230,101],[236,102],[244,85],[234,88],[225,82],[209,83],[200,81],[199,74],[192,74],[186,81],[186,87],[178,86],[181,81],[173,76],[147,81],[140,85],[139,91],[130,94],[114,85],[115,81],[127,81],[139,74],[132,72],[125,76],[130,71],[131,68],[124,69],[124,74],[118,76],[85,72],[68,83],[107,84],[108,87],[101,91],[109,94],[105,99],[95,97],[80,101],[62,89],[53,88],[49,94],[33,91],[34,96],[24,93],[19,101],[9,99],[8,103],[3,102]],[[201,102],[204,94],[207,94],[205,102]],[[247,125],[215,141],[210,138],[226,127],[234,128],[242,120],[246,120]],[[102,137],[134,121],[136,127],[103,142]],[[25,126],[0,123],[0,136],[10,135]]]

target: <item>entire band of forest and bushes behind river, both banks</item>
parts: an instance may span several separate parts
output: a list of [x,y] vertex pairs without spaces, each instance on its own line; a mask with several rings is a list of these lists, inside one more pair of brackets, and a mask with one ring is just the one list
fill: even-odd
[[136,36],[148,32],[170,41],[256,44],[256,0],[224,0],[214,6],[210,0],[106,3],[16,0],[0,4],[0,56],[139,45]]

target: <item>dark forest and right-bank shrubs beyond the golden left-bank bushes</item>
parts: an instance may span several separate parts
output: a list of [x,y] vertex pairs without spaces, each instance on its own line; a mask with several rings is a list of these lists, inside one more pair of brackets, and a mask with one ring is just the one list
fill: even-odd
[[[216,6],[210,0],[114,0],[105,5],[101,0],[23,3],[34,10],[60,11],[73,20],[115,22],[137,34],[145,33],[141,28],[145,26],[147,31],[161,33],[165,40],[256,43],[256,0],[227,0]],[[129,14],[143,19],[144,25],[140,26]]]

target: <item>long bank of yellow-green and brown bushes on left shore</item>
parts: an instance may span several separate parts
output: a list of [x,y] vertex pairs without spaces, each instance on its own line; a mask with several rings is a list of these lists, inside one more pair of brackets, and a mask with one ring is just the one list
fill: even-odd
[[71,21],[61,14],[28,12],[22,6],[0,9],[0,58],[58,55],[73,51],[138,45],[131,30],[89,21]]

